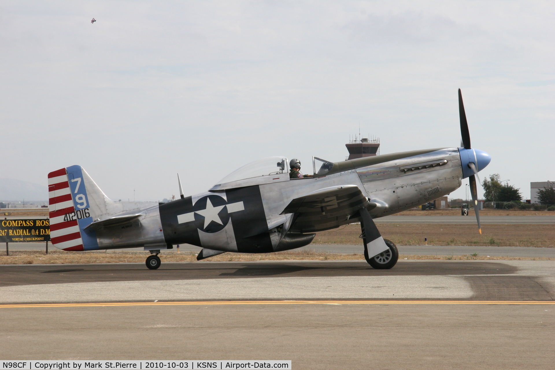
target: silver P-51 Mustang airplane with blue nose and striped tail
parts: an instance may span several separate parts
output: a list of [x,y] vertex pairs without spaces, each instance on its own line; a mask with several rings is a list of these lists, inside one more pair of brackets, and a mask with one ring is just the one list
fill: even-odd
[[[52,244],[65,251],[144,247],[146,264],[176,244],[203,249],[197,260],[224,252],[268,253],[310,244],[317,231],[360,222],[364,256],[374,268],[391,268],[397,247],[372,219],[449,194],[490,155],[472,149],[458,90],[463,148],[412,150],[341,162],[314,157],[314,175],[291,176],[284,156],[260,159],[225,176],[210,190],[168,203],[110,200],[80,166],[48,174]],[[293,166],[296,160],[291,161]],[[478,230],[480,218],[475,207]]]

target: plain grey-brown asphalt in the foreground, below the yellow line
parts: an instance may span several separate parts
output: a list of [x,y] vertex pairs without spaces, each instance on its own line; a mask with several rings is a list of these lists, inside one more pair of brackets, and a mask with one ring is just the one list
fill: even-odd
[[291,359],[299,369],[552,369],[547,305],[2,309],[10,359]]

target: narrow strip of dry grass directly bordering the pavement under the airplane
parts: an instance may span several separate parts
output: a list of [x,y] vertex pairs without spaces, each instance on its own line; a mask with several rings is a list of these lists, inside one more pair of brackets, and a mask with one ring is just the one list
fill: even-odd
[[[3,265],[28,265],[32,263],[143,263],[148,252],[118,251],[118,252],[65,252],[54,251],[48,255],[39,251],[14,251],[10,256],[0,256]],[[160,254],[162,262],[195,262],[196,255],[192,252],[163,252]],[[486,257],[486,256],[425,256],[400,255],[400,260],[555,260],[552,258],[536,257]],[[364,260],[361,254],[331,254],[314,250],[297,252],[278,252],[264,254],[224,253],[210,257],[209,261],[341,261]]]

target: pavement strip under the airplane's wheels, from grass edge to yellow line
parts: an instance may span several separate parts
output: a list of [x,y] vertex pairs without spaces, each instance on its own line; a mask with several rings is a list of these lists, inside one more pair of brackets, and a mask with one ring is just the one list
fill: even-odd
[[289,298],[544,301],[552,299],[549,292],[554,267],[555,261],[455,260],[400,260],[391,270],[375,270],[365,261],[163,262],[159,270],[148,270],[143,263],[2,265],[0,302]]

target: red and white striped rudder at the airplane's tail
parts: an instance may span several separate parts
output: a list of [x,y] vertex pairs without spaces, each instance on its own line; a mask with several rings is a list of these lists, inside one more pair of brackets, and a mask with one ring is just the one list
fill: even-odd
[[50,240],[64,251],[82,251],[83,239],[74,214],[73,197],[65,168],[48,174],[48,204],[50,210]]

